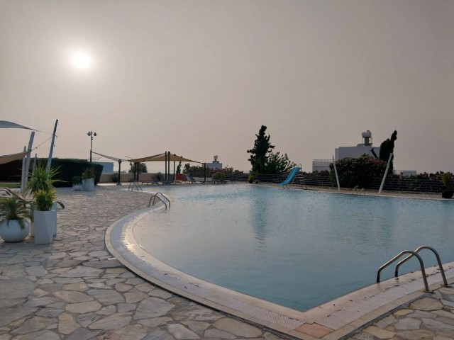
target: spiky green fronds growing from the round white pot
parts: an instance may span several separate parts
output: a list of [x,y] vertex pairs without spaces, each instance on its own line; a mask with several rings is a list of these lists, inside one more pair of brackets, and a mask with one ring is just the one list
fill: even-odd
[[2,198],[0,200],[0,222],[6,221],[9,226],[10,220],[16,220],[21,226],[25,228],[25,222],[33,219],[32,211],[28,201],[18,195],[13,195],[9,198]]

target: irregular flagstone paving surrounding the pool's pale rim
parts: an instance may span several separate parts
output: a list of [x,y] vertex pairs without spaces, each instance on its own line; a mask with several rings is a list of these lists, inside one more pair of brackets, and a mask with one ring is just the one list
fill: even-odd
[[[0,241],[0,340],[289,339],[157,288],[112,258],[106,228],[149,196],[102,187],[57,195],[66,209],[52,244]],[[454,339],[454,290],[441,288],[350,339]]]

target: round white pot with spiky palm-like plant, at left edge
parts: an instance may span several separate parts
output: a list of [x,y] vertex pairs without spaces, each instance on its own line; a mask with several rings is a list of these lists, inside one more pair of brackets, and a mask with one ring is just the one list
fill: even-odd
[[21,242],[30,231],[33,218],[30,204],[13,195],[0,199],[0,237],[5,242]]

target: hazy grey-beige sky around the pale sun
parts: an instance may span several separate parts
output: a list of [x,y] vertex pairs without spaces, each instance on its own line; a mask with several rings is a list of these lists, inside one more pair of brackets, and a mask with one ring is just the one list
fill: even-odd
[[[245,171],[260,125],[308,171],[397,130],[396,169],[454,171],[453,18],[454,0],[0,0],[0,120],[58,119],[55,157],[87,159],[93,130],[102,154]],[[29,135],[1,129],[0,154]]]

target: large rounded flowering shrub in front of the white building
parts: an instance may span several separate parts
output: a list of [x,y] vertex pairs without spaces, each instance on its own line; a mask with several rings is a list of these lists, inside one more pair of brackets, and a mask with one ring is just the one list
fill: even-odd
[[[339,182],[344,188],[370,188],[373,179],[381,178],[387,163],[363,154],[359,158],[345,157],[336,161]],[[336,183],[333,164],[330,164],[331,181]]]

